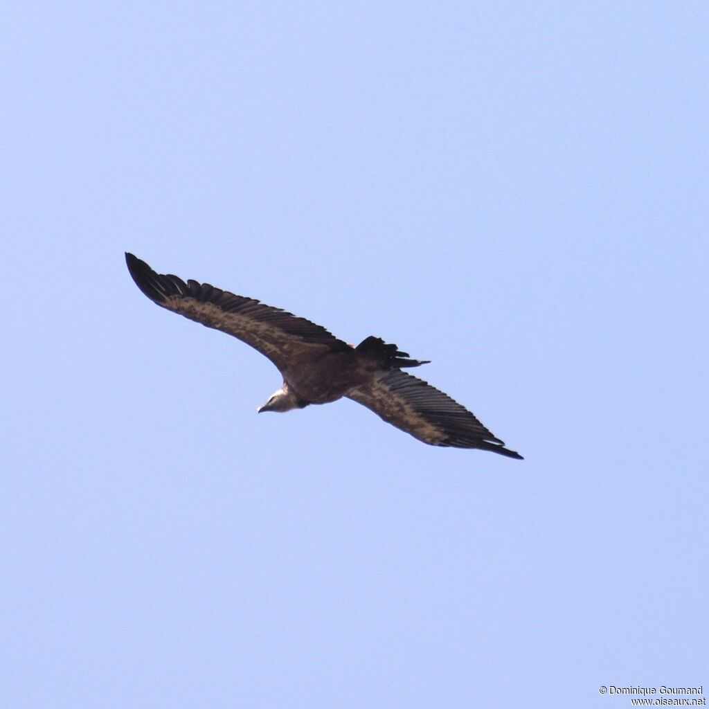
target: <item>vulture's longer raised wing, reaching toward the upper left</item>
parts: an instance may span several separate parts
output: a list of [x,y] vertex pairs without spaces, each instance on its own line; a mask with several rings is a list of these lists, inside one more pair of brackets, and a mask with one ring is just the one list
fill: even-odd
[[151,301],[208,328],[238,337],[265,354],[281,372],[287,362],[296,362],[301,355],[352,349],[320,325],[280,308],[235,296],[207,283],[185,283],[171,274],[157,274],[133,254],[127,253],[125,262],[135,284]]

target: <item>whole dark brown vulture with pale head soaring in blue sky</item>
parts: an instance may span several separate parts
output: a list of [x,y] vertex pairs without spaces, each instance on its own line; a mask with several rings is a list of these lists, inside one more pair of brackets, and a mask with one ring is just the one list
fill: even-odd
[[347,345],[320,325],[280,308],[206,283],[157,274],[133,254],[127,253],[125,262],[151,301],[238,337],[278,367],[283,386],[259,412],[290,411],[346,396],[429,445],[481,448],[522,458],[450,396],[402,372],[428,362],[409,359],[396,345],[379,337],[367,337],[357,347]]

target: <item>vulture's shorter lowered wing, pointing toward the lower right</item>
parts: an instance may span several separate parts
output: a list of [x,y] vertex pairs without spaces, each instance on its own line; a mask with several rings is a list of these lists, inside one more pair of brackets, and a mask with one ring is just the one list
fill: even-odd
[[398,370],[367,387],[347,393],[387,423],[430,445],[482,448],[510,458],[522,456],[504,447],[479,420],[450,396],[422,379]]

